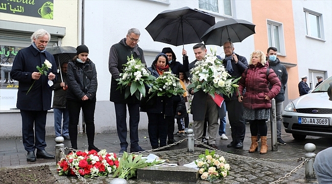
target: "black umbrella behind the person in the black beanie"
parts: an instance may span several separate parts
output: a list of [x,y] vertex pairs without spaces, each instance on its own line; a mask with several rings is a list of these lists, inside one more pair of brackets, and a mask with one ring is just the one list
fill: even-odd
[[57,46],[54,48],[46,48],[46,51],[51,53],[54,56],[55,60],[58,61],[56,62],[56,64],[57,68],[59,68],[60,71],[61,81],[63,82],[61,68],[60,68],[61,63],[73,59],[76,56],[76,48],[70,46],[65,46],[65,47]]

